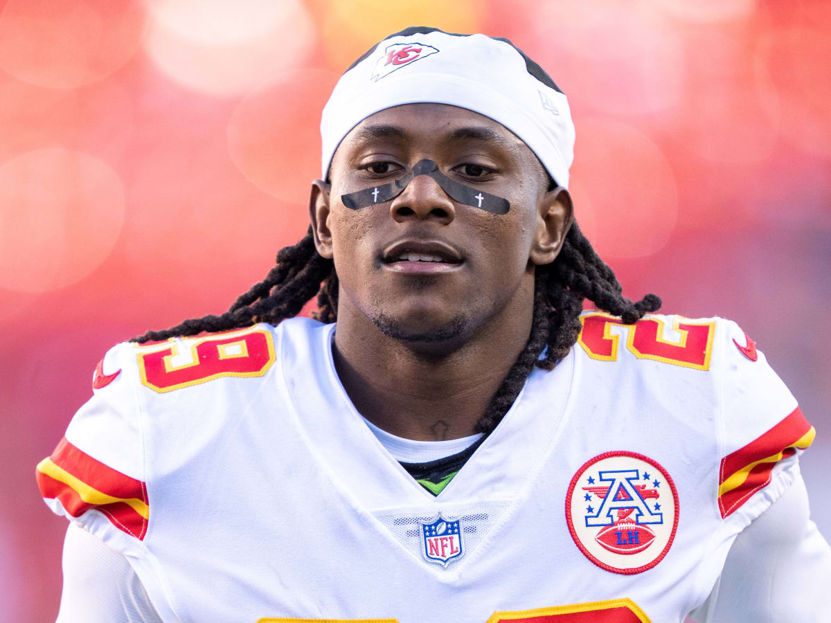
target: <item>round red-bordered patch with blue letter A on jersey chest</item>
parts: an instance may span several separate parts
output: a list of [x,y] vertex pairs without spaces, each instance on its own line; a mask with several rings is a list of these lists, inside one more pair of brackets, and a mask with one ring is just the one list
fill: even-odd
[[643,454],[606,452],[574,474],[566,521],[590,561],[640,573],[666,556],[678,527],[678,493],[666,470]]

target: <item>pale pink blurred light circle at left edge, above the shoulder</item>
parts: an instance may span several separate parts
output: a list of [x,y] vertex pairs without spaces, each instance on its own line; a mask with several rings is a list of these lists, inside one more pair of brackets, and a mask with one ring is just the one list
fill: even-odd
[[124,222],[118,175],[91,155],[33,150],[0,166],[0,287],[44,292],[92,272]]

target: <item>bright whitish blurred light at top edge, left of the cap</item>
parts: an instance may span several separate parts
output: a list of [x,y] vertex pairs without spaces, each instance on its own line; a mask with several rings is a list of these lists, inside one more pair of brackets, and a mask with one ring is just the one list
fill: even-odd
[[314,28],[297,0],[152,0],[145,49],[194,91],[234,96],[297,66]]

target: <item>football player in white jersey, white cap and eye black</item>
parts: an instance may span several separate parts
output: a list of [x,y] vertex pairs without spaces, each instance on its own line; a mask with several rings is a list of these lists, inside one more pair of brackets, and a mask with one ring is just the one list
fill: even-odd
[[735,323],[622,297],[548,74],[411,27],[321,130],[306,237],[38,465],[59,621],[828,621],[814,429]]

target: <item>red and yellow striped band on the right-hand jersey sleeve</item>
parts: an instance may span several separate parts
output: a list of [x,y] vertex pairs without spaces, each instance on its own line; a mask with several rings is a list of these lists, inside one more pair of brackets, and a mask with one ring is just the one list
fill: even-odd
[[719,509],[725,518],[750,496],[770,483],[770,474],[780,460],[805,449],[814,441],[814,427],[797,407],[779,424],[721,459]]

